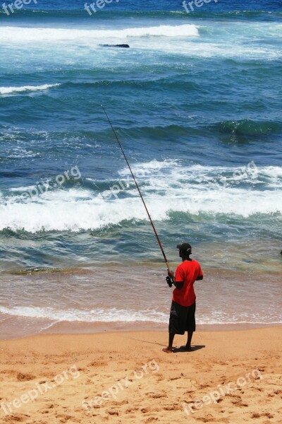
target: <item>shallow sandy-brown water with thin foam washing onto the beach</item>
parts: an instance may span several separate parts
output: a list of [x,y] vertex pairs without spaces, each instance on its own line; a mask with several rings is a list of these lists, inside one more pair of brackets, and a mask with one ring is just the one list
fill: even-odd
[[[277,276],[267,279],[264,274],[254,278],[242,272],[205,272],[204,281],[195,285],[198,329],[224,331],[282,324]],[[144,273],[152,278],[149,288],[142,283]],[[164,280],[163,269],[137,266],[129,271],[119,266],[101,275],[99,284],[94,273],[39,273],[2,280],[0,338],[167,330],[172,289]],[[261,293],[264,307],[259,310]]]

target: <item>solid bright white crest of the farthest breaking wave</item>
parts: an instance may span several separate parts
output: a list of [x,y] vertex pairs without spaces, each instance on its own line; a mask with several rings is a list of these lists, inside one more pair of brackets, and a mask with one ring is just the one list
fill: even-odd
[[124,28],[121,30],[78,30],[75,28],[21,28],[1,27],[0,42],[46,42],[60,40],[97,40],[105,38],[123,40],[128,37],[197,37],[197,26],[159,25],[153,27]]

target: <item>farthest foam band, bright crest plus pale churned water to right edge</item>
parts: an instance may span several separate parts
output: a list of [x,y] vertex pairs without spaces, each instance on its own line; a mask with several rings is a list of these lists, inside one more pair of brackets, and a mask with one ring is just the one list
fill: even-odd
[[[112,28],[112,27],[110,27]],[[75,61],[75,43],[97,49],[100,44],[130,43],[138,50],[166,52],[185,57],[247,57],[248,59],[273,60],[281,58],[281,50],[275,45],[269,49],[264,43],[246,43],[245,37],[260,40],[267,34],[274,39],[281,37],[281,25],[276,23],[222,23],[214,26],[207,21],[201,25],[159,25],[121,29],[75,29],[75,28],[22,28],[5,26],[0,28],[0,43],[11,49],[11,44],[49,43],[51,49],[59,49],[71,63]],[[197,42],[195,42],[197,37]],[[224,42],[219,42],[224,37]],[[212,40],[212,41],[211,41]],[[235,42],[234,42],[235,40]],[[64,49],[61,48],[64,43]],[[13,46],[14,48],[15,46]],[[48,46],[46,46],[48,48]],[[86,54],[89,51],[87,50]],[[104,56],[105,52],[102,52]],[[111,54],[111,52],[109,52]],[[129,54],[129,52],[127,52]],[[99,58],[100,59],[100,58]],[[66,58],[64,58],[66,60]],[[81,60],[81,57],[80,57]]]

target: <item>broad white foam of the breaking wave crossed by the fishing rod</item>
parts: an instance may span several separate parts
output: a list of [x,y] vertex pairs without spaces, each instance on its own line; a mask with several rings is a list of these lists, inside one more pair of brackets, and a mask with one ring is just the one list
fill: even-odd
[[[138,179],[154,220],[166,220],[171,212],[222,213],[245,218],[257,213],[282,213],[281,167],[258,167],[257,175],[250,172],[245,178],[233,176],[240,168],[185,167],[180,163],[168,166],[166,161],[137,164],[133,170],[144,171]],[[121,170],[121,181],[127,172]],[[147,219],[134,184],[124,187],[126,198],[117,192],[110,199],[90,189],[76,188],[52,189],[25,198],[11,192],[11,196],[0,198],[0,230],[78,231],[118,225],[123,220]]]

